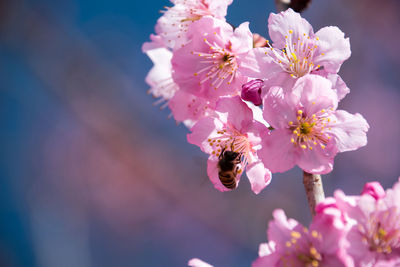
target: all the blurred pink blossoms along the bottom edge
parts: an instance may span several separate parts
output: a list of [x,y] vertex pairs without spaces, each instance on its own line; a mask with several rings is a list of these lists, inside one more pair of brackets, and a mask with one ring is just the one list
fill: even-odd
[[[386,192],[378,182],[358,196],[338,190],[316,210],[308,228],[275,210],[269,242],[260,245],[252,266],[400,266],[400,179]],[[189,266],[212,267],[199,259]]]

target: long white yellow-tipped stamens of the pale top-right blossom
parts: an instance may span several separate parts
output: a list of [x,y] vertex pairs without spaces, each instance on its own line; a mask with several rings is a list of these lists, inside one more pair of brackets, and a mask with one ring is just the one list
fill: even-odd
[[279,50],[270,46],[270,55],[290,76],[299,78],[321,68],[313,63],[318,40],[318,37],[310,37],[305,33],[295,38],[293,30],[289,30],[288,35],[285,35],[285,48]]

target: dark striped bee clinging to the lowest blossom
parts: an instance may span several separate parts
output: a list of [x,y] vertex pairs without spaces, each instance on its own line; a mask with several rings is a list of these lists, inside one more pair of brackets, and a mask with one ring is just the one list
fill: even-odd
[[[233,150],[231,148],[231,150]],[[235,189],[237,186],[236,177],[239,166],[242,162],[242,153],[222,149],[218,159],[218,177],[221,183],[228,189]]]

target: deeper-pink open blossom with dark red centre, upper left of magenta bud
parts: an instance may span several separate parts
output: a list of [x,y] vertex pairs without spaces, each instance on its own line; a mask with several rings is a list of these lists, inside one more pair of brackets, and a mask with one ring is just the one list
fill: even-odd
[[176,50],[172,58],[173,78],[181,90],[216,99],[240,94],[247,76],[242,75],[252,34],[248,23],[233,31],[225,21],[204,17],[189,27],[187,45]]

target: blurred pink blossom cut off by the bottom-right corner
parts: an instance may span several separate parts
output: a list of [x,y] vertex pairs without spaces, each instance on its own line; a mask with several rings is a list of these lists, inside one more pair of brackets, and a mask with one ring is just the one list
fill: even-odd
[[341,191],[335,198],[349,218],[347,252],[356,266],[400,266],[400,181],[380,198],[366,192],[348,197]]

